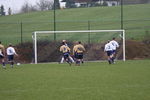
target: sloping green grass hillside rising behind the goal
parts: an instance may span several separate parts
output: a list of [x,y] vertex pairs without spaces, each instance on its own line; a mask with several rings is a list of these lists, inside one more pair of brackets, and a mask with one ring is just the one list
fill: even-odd
[[[126,37],[142,40],[150,27],[150,4],[124,5],[123,8]],[[19,43],[22,22],[23,41],[31,41],[32,32],[54,29],[53,16],[53,11],[43,11],[0,17],[0,40],[6,44]],[[120,19],[120,6],[56,10],[56,30],[88,30],[88,21],[91,30],[120,29]]]

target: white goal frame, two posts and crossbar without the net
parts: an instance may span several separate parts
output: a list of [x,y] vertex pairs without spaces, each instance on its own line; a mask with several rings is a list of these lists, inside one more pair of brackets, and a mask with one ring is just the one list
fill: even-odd
[[123,42],[123,61],[125,58],[125,30],[76,30],[76,31],[35,31],[32,34],[33,45],[34,45],[34,63],[37,64],[37,34],[52,34],[52,33],[96,33],[96,32],[122,32],[121,38]]

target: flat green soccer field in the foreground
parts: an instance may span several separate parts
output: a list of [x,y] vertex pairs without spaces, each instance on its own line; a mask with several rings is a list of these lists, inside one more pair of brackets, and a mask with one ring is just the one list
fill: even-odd
[[150,60],[0,68],[0,100],[150,100]]

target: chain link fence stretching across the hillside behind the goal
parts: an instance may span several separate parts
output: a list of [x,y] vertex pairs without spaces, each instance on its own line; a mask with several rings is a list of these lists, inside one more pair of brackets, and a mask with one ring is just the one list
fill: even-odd
[[[144,25],[142,25],[144,23]],[[5,44],[15,44],[32,41],[34,31],[53,31],[54,22],[19,22],[0,23],[0,40]],[[130,26],[133,24],[133,26]],[[56,30],[113,30],[121,29],[120,21],[56,21]],[[124,20],[126,38],[140,39],[149,34],[150,19],[147,20]],[[145,34],[145,35],[143,35]],[[67,34],[68,36],[68,34]],[[66,37],[67,37],[66,36]],[[141,37],[142,36],[142,37]],[[144,38],[144,37],[143,37]],[[50,38],[53,40],[53,36]],[[56,35],[56,40],[59,39]],[[88,40],[91,41],[91,40]]]

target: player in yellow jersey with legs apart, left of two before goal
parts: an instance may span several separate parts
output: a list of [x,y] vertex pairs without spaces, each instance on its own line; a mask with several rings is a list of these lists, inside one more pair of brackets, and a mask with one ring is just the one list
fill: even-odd
[[71,60],[69,59],[70,48],[65,45],[65,42],[62,42],[62,46],[60,47],[60,52],[63,53],[64,60],[71,65]]

